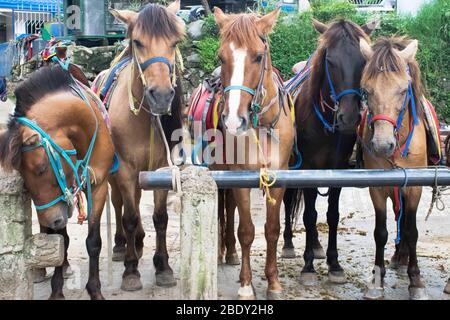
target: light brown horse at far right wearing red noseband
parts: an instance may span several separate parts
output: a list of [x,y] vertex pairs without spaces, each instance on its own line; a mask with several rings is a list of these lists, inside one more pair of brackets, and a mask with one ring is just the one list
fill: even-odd
[[[361,52],[367,60],[361,82],[368,103],[368,120],[363,123],[362,137],[366,168],[425,167],[428,164],[425,120],[419,107],[424,91],[415,60],[417,48],[417,40],[382,38],[371,47],[361,39]],[[383,296],[384,248],[388,238],[386,200],[391,198],[399,220],[396,254],[400,260],[402,257],[407,260],[409,255],[410,298],[426,298],[416,253],[416,213],[422,187],[369,190],[376,213],[376,255],[373,279],[365,297]]]

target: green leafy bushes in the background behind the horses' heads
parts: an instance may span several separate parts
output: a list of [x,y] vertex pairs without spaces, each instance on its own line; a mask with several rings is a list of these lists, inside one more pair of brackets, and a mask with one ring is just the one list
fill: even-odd
[[[311,24],[312,17],[322,22],[346,18],[360,25],[371,18],[367,13],[358,13],[347,2],[315,0],[311,1],[311,5],[311,12],[282,15],[270,36],[272,62],[285,78],[292,76],[292,66],[306,60],[317,46],[319,33]],[[256,5],[255,8],[264,13],[261,6]],[[450,123],[450,1],[434,0],[425,5],[416,17],[386,13],[381,14],[380,18],[380,29],[372,34],[373,40],[394,35],[419,40],[417,60],[428,96],[441,120]],[[213,16],[206,18],[203,28],[205,38],[196,42],[195,46],[202,68],[205,72],[211,72],[219,64],[219,30]]]

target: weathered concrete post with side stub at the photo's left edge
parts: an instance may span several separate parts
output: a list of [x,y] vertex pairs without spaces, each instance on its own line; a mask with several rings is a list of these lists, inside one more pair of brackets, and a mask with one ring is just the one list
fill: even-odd
[[31,269],[63,261],[63,237],[31,234],[31,200],[22,178],[0,170],[0,300],[33,299]]

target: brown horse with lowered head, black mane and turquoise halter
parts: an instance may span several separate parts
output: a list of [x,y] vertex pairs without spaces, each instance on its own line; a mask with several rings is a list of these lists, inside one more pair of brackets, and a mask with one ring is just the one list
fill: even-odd
[[[35,204],[41,230],[61,234],[67,263],[67,220],[83,190],[88,198],[91,299],[103,299],[99,277],[100,218],[114,146],[95,94],[60,67],[43,67],[15,90],[14,114],[0,133],[0,164],[18,170]],[[100,101],[98,101],[100,103]],[[78,200],[80,203],[81,200]],[[55,268],[50,299],[64,299],[63,266]]]

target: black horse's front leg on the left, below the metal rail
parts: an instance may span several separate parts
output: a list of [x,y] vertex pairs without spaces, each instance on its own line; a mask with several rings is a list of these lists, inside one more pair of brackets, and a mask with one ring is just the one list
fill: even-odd
[[306,229],[306,246],[303,254],[305,265],[300,274],[300,282],[305,286],[317,284],[317,273],[314,270],[314,245],[318,239],[317,233],[317,211],[316,199],[317,189],[308,188],[303,190],[305,195],[305,211],[303,213],[303,223]]

